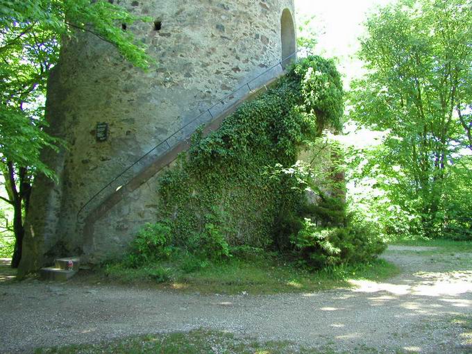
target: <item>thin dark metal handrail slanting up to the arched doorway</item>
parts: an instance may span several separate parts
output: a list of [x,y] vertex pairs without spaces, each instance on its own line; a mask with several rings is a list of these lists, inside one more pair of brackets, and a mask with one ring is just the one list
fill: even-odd
[[[287,56],[287,58],[284,58],[283,60],[280,60],[276,65],[273,65],[272,67],[269,67],[269,69],[267,69],[266,71],[262,72],[262,74],[259,74],[258,76],[255,76],[255,78],[252,78],[250,81],[248,81],[247,83],[245,83],[244,85],[241,85],[239,87],[237,87],[236,90],[233,90],[232,92],[230,92],[229,94],[226,94],[226,96],[224,97],[221,97],[221,99],[218,100],[218,103],[214,103],[213,106],[211,106],[210,108],[204,110],[200,115],[198,115],[197,117],[195,117],[194,119],[190,120],[187,122],[187,124],[185,124],[184,126],[180,127],[178,130],[176,130],[174,133],[172,133],[171,135],[169,135],[168,137],[165,138],[165,140],[162,140],[159,144],[155,145],[151,150],[149,150],[148,152],[146,152],[144,155],[142,155],[139,159],[137,159],[135,162],[133,162],[133,164],[129,165],[128,167],[126,167],[126,169],[124,169],[123,171],[121,171],[120,174],[118,174],[117,176],[115,176],[115,178],[113,178],[112,180],[110,180],[109,183],[107,183],[107,185],[105,185],[105,187],[103,187],[102,189],[99,190],[99,192],[96,192],[92,198],[90,198],[87,203],[85,203],[84,205],[82,205],[82,207],[78,210],[77,214],[76,214],[76,219],[78,219],[78,217],[80,216],[81,212],[83,210],[85,210],[85,207],[87,205],[89,205],[95,198],[96,196],[99,196],[99,194],[101,194],[101,192],[103,192],[105,189],[107,189],[108,187],[110,187],[113,183],[115,183],[119,178],[121,178],[121,176],[123,176],[124,174],[126,174],[126,172],[128,172],[130,169],[132,169],[133,167],[135,167],[138,163],[140,163],[142,160],[144,160],[144,158],[146,158],[147,156],[149,156],[151,153],[153,153],[153,151],[155,151],[156,149],[158,149],[160,146],[164,145],[164,144],[167,144],[167,151],[169,151],[171,149],[171,145],[169,144],[169,140],[171,138],[173,138],[174,136],[176,136],[178,133],[181,133],[185,128],[187,128],[187,126],[189,126],[190,124],[194,123],[195,121],[197,121],[198,119],[200,119],[201,117],[203,117],[203,115],[210,113],[210,117],[212,117],[212,119],[214,118],[213,115],[212,115],[212,112],[211,110],[217,106],[219,106],[220,103],[223,103],[224,104],[224,101],[226,99],[228,99],[228,97],[232,96],[233,94],[235,94],[236,92],[238,92],[239,90],[241,90],[242,88],[244,87],[248,87],[249,91],[251,92],[251,86],[250,84],[253,83],[254,81],[256,81],[258,78],[260,78],[261,76],[263,76],[264,74],[267,74],[269,71],[275,69],[276,67],[278,67],[278,65],[280,65],[282,67],[282,70],[284,70],[284,63],[287,62],[287,60],[293,58],[294,56],[296,56],[296,54],[298,53],[298,51],[295,51],[294,53],[290,54],[289,56]],[[185,139],[183,140],[186,140],[187,137],[185,137]],[[126,184],[126,183],[124,183]],[[122,185],[120,186],[122,187]],[[118,190],[118,189],[116,189]]]

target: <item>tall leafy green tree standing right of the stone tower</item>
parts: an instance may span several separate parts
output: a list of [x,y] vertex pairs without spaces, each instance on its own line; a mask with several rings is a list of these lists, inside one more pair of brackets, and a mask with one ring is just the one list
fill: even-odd
[[472,149],[471,24],[470,0],[401,0],[367,20],[361,42],[369,72],[353,83],[351,117],[388,132],[364,176],[424,235],[441,233],[446,193],[470,177],[457,169]]

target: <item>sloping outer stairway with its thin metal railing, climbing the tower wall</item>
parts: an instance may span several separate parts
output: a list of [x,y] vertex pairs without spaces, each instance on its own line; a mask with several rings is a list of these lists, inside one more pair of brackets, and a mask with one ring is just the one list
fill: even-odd
[[[194,117],[193,119],[188,121],[184,126],[182,126],[174,133],[169,135],[167,138],[161,140],[158,144],[153,146],[152,149],[144,153],[144,155],[142,155],[139,159],[137,159],[131,165],[126,167],[126,169],[121,171],[121,173],[115,176],[115,178],[112,178],[109,183],[107,183],[103,188],[96,192],[84,205],[82,205],[82,207],[78,210],[76,214],[76,220],[80,223],[80,219],[81,217],[83,217],[83,213],[89,208],[92,209],[90,210],[91,212],[99,209],[100,202],[98,205],[94,205],[94,201],[96,201],[101,194],[105,194],[106,190],[110,190],[110,192],[107,194],[108,196],[104,196],[103,199],[101,199],[101,202],[104,203],[105,201],[109,201],[110,205],[115,205],[117,201],[109,200],[110,197],[112,197],[112,194],[114,194],[115,192],[124,192],[124,187],[126,187],[126,185],[128,185],[128,183],[133,180],[133,177],[135,177],[136,174],[139,174],[142,169],[145,169],[147,166],[151,165],[152,160],[160,158],[163,155],[166,155],[167,153],[173,151],[179,142],[188,142],[189,137],[194,133],[196,128],[198,128],[202,124],[211,123],[214,119],[216,119],[220,115],[224,115],[225,112],[228,112],[228,110],[233,108],[235,105],[242,103],[240,101],[241,97],[244,97],[245,95],[253,92],[253,90],[255,90],[256,88],[264,87],[264,85],[266,85],[274,78],[280,77],[285,72],[287,65],[290,62],[293,62],[293,59],[296,58],[297,53],[298,51],[292,53],[290,56],[287,56],[287,58],[280,60],[280,62],[278,62],[276,65],[269,67],[269,69],[262,72],[262,74],[259,74],[244,85],[239,86],[233,92],[230,92],[229,94],[226,94],[225,96],[221,97],[221,99],[219,99],[218,102],[215,103],[213,106],[206,109],[200,115]],[[266,80],[265,77],[267,76],[267,74],[276,69],[280,70],[279,74],[276,76],[272,76],[269,80]],[[254,87],[251,88],[251,86]],[[228,101],[228,99],[230,99],[229,102],[231,102],[231,100],[235,101],[231,104],[227,104],[226,101]],[[220,105],[222,107],[220,107]],[[161,164],[162,166],[160,167],[160,169],[165,167],[166,164],[169,165],[170,162],[172,162],[172,160],[165,161],[164,165]],[[130,173],[130,176],[127,176],[128,173]],[[157,171],[154,171],[154,174],[155,173],[157,173]]]

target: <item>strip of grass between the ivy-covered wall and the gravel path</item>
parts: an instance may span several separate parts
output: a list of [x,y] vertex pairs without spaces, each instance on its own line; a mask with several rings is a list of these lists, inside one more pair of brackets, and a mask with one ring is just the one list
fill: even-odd
[[280,256],[265,253],[250,259],[204,262],[194,269],[187,263],[188,260],[180,260],[139,269],[126,268],[120,263],[109,264],[102,275],[112,283],[153,284],[163,289],[201,294],[278,294],[351,287],[348,280],[378,281],[399,272],[394,264],[385,260],[309,271]]

